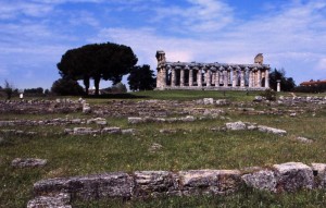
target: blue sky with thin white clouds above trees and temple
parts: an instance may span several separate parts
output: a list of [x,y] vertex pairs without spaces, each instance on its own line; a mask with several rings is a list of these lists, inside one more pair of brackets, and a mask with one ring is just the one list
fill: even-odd
[[[264,63],[326,79],[325,0],[0,0],[0,85],[50,88],[68,49],[130,46],[138,64]],[[110,82],[102,81],[102,87]]]

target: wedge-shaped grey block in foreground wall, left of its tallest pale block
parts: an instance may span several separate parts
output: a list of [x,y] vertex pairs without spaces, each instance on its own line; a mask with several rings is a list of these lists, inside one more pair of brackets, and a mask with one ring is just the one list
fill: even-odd
[[277,191],[277,178],[272,170],[260,170],[258,172],[244,174],[241,179],[251,187],[268,192]]

